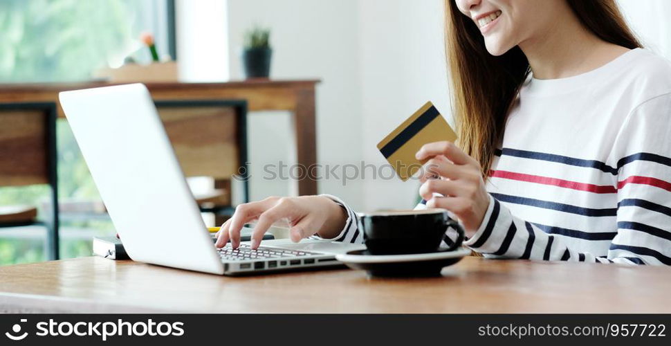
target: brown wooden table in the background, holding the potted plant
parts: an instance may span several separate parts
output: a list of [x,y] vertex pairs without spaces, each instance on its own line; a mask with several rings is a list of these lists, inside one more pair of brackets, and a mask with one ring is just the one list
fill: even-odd
[[[290,111],[297,148],[297,164],[315,167],[315,86],[318,80],[254,80],[226,83],[146,83],[154,100],[247,100],[249,111]],[[0,103],[56,102],[60,91],[109,86],[104,82],[0,84]],[[58,107],[59,116],[64,116]],[[317,181],[298,181],[298,194],[317,194]]]

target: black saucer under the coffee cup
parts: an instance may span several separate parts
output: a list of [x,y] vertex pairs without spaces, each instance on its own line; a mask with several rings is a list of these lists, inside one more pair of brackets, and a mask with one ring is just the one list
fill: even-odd
[[353,269],[363,269],[372,276],[426,277],[438,276],[445,266],[459,262],[470,250],[414,253],[409,255],[371,255],[366,250],[350,251],[335,259]]

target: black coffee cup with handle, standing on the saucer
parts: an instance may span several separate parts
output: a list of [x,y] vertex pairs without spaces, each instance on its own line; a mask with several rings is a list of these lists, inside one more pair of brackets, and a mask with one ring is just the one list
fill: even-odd
[[[439,249],[448,227],[457,230],[457,240],[449,248]],[[371,255],[452,251],[463,242],[463,228],[443,209],[362,213],[359,228]]]

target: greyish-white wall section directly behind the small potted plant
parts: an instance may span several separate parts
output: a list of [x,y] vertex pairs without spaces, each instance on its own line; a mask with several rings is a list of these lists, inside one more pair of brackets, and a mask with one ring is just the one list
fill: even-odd
[[[231,79],[242,78],[243,33],[259,24],[272,30],[271,78],[320,78],[317,91],[318,163],[344,165],[362,159],[356,0],[228,0]],[[288,194],[286,181],[265,181],[261,167],[295,163],[288,114],[252,114],[250,158],[252,199]],[[289,132],[291,133],[291,132]],[[362,208],[360,182],[319,182],[321,193],[337,194]]]

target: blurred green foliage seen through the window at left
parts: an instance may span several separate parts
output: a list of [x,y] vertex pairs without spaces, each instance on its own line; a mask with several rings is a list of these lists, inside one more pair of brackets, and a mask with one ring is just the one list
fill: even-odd
[[[96,69],[120,66],[138,51],[151,1],[0,0],[0,82],[90,80]],[[151,14],[149,14],[151,15]],[[59,198],[100,201],[89,170],[64,120],[57,124]],[[42,185],[0,188],[0,206],[48,203]],[[42,214],[42,209],[40,210]],[[113,235],[106,217],[64,218],[61,257],[91,255],[93,235]],[[0,265],[45,260],[46,229],[0,229]]]

